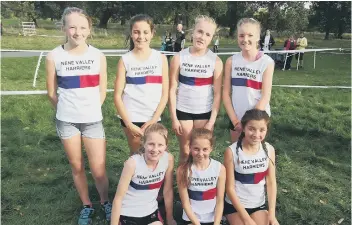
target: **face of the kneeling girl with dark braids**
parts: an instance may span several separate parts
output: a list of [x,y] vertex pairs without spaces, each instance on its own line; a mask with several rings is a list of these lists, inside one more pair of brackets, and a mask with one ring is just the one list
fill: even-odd
[[256,145],[262,142],[266,136],[268,125],[265,120],[250,120],[244,127],[244,133],[247,143]]

